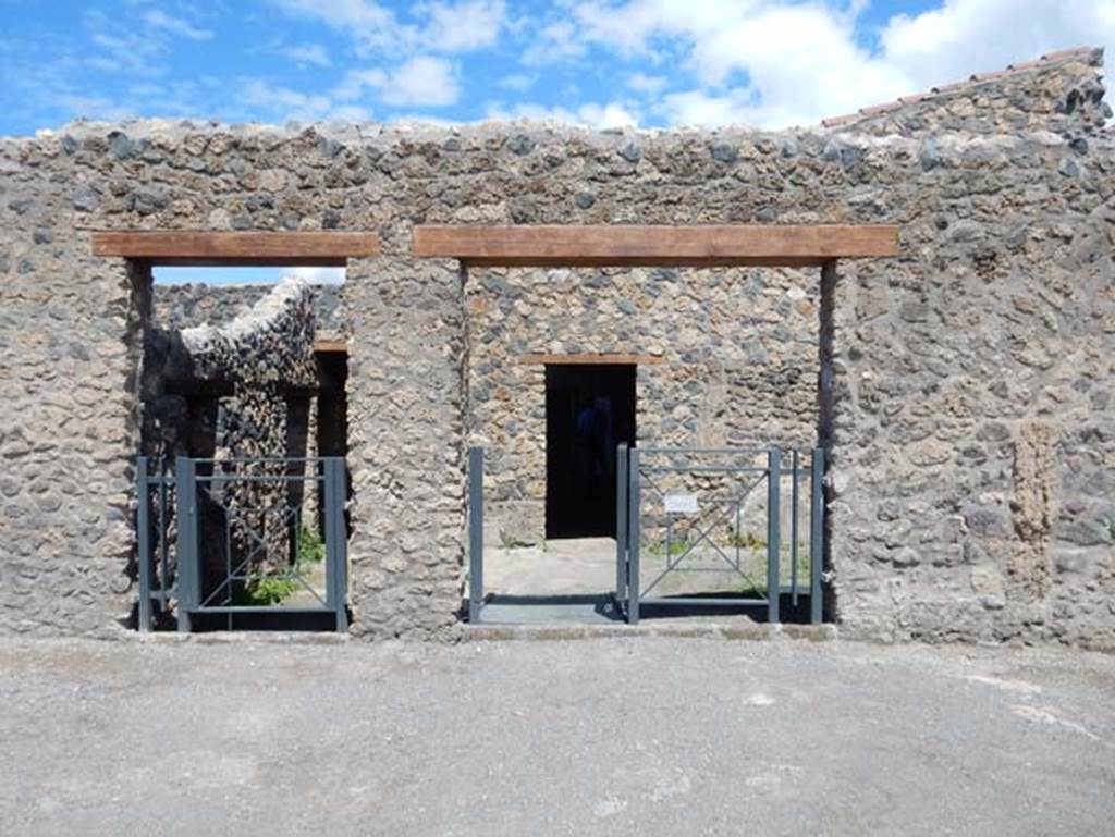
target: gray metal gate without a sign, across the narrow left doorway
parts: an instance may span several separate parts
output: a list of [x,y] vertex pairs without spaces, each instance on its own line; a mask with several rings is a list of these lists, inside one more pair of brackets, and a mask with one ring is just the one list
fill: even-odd
[[[137,461],[140,632],[156,611],[331,614],[348,627],[341,457]],[[309,518],[309,519],[307,519]]]

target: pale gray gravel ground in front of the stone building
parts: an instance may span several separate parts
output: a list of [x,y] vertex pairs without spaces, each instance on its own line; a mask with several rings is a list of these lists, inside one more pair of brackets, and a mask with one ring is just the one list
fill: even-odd
[[0,641],[3,835],[1109,835],[1115,658]]

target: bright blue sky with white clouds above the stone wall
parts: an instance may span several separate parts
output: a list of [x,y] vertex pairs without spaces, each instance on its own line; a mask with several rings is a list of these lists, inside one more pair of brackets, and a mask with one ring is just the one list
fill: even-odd
[[0,135],[133,116],[777,128],[1115,46],[1115,0],[0,0]]

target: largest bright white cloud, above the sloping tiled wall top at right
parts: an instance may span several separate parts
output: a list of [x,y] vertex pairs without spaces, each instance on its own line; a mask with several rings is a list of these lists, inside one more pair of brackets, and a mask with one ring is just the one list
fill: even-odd
[[[857,39],[866,6],[578,0],[570,7],[575,31],[562,36],[573,55],[591,43],[648,66],[679,56],[677,75],[686,80],[672,91],[660,96],[655,77],[641,71],[629,81],[646,108],[671,123],[763,127],[815,123],[1044,52],[1115,46],[1115,0],[943,0],[892,18],[876,51]],[[554,26],[532,49],[554,40]]]

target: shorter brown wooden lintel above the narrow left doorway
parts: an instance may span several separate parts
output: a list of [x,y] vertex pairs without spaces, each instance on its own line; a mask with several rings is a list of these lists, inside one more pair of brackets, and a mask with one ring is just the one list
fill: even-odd
[[165,265],[306,265],[343,267],[379,254],[375,233],[97,232],[94,255]]

